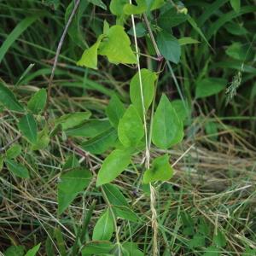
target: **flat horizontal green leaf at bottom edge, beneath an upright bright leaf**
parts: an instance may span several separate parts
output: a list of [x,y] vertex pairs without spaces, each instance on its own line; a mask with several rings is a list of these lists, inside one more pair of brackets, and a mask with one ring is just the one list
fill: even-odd
[[90,241],[84,245],[82,256],[110,253],[112,249],[113,244],[109,241]]

